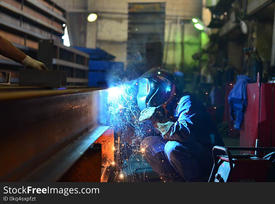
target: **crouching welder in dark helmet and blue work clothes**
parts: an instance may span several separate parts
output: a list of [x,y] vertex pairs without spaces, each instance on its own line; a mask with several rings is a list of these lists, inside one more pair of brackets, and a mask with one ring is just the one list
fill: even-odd
[[162,69],[145,72],[138,84],[139,121],[150,121],[158,133],[140,143],[146,161],[165,182],[207,182],[212,148],[224,143],[204,104],[180,92],[173,75]]

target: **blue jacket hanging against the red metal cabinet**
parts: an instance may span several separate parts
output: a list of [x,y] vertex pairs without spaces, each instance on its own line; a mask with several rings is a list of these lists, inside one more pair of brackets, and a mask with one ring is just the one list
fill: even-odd
[[230,116],[234,121],[233,128],[240,130],[242,120],[247,106],[247,88],[246,85],[252,83],[252,80],[246,75],[238,75],[237,82],[228,95],[230,106]]

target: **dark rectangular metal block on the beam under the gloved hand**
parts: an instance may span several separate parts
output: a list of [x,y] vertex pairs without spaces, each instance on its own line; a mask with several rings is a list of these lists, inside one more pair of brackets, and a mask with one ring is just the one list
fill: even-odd
[[19,86],[60,88],[66,85],[65,71],[19,69]]

